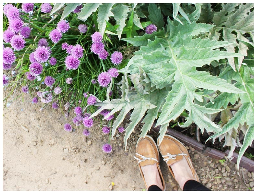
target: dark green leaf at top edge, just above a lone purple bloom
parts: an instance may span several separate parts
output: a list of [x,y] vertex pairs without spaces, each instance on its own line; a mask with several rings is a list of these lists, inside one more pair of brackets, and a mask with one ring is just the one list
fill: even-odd
[[161,9],[155,3],[148,4],[148,18],[157,26],[158,29],[164,27],[164,19]]

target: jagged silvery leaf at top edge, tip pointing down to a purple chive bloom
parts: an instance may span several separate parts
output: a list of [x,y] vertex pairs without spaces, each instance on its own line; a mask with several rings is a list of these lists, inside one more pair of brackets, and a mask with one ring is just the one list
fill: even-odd
[[106,21],[109,21],[109,16],[113,16],[113,13],[111,12],[113,5],[114,3],[103,3],[102,5],[99,5],[97,22],[99,24],[99,33],[101,35],[105,32],[107,26]]

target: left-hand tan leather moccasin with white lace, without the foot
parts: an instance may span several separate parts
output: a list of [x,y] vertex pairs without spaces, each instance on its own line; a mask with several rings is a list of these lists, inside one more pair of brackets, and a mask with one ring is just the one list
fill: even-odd
[[154,163],[157,164],[157,169],[159,171],[159,175],[162,181],[163,190],[165,191],[165,182],[159,166],[159,151],[157,148],[157,144],[155,143],[152,137],[150,137],[149,135],[146,135],[145,138],[140,137],[138,139],[138,142],[136,145],[136,156],[134,156],[134,158],[138,160],[140,173],[144,180],[146,188],[148,188],[150,185],[146,184],[141,167],[146,165],[152,165]]

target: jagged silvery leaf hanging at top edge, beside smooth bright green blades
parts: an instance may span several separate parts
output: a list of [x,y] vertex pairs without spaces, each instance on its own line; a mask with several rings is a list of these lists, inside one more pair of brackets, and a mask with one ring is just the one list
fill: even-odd
[[125,21],[128,16],[128,12],[130,11],[130,6],[126,6],[123,4],[117,4],[116,7],[112,9],[112,13],[114,14],[114,18],[116,20],[116,25],[119,25],[116,29],[118,38],[120,40],[123,28],[125,27]]

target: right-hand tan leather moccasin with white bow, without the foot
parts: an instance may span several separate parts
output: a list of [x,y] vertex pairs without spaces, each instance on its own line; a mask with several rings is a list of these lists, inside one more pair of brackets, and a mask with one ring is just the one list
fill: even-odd
[[185,157],[194,178],[199,182],[198,175],[196,174],[196,171],[192,165],[188,150],[178,139],[172,137],[171,135],[165,135],[160,145],[159,145],[159,137],[157,138],[157,145],[174,179],[175,179],[175,176],[170,165],[172,165],[173,163],[179,160],[182,160],[183,157]]

